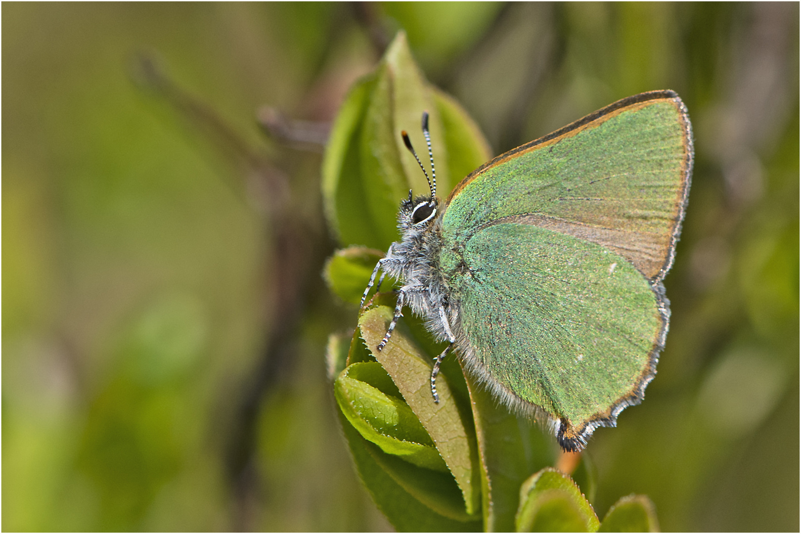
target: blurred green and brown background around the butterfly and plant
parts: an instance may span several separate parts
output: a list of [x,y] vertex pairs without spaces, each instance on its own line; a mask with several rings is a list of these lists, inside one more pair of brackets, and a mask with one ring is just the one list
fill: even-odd
[[3,530],[389,528],[325,375],[356,309],[320,277],[319,141],[401,28],[497,154],[630,94],[682,96],[670,335],[645,402],[588,447],[593,504],[799,529],[798,3],[2,15]]

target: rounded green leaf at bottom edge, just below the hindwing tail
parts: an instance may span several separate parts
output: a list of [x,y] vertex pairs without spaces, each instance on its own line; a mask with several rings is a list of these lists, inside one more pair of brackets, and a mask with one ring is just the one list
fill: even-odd
[[521,485],[515,530],[595,532],[598,516],[570,476],[545,468]]

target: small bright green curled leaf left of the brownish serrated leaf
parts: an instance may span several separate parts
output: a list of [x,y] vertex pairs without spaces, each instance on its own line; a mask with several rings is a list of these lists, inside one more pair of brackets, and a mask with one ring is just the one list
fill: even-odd
[[385,382],[391,382],[379,363],[366,362],[352,364],[334,383],[336,403],[353,428],[388,454],[421,468],[446,472],[445,462],[411,408],[364,379],[384,382],[384,388]]

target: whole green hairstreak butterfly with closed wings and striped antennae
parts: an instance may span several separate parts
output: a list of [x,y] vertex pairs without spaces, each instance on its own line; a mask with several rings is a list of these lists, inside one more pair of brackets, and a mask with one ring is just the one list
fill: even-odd
[[642,401],[665,343],[662,279],[693,164],[686,107],[670,90],[624,98],[485,163],[444,202],[427,114],[423,132],[430,194],[400,204],[402,239],[364,291],[378,271],[403,281],[378,349],[408,305],[449,342],[435,402],[455,349],[503,404],[580,451]]

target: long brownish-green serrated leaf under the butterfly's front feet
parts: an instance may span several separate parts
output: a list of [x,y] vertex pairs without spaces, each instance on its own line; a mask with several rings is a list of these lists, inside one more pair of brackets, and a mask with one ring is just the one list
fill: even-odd
[[365,311],[359,319],[362,337],[436,444],[461,488],[465,510],[472,516],[479,509],[481,493],[477,447],[473,434],[467,431],[471,425],[462,420],[463,412],[457,407],[457,400],[444,375],[437,379],[440,402],[434,403],[430,388],[432,363],[400,328],[392,334],[383,351],[376,350],[391,320],[390,307],[379,306]]

